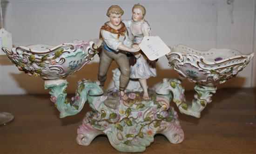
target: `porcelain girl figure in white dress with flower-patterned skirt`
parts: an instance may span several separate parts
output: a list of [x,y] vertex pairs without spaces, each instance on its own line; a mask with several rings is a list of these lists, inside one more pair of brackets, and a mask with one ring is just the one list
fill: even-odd
[[[123,20],[123,23],[128,29],[129,34],[133,37],[133,43],[139,45],[144,36],[150,36],[150,27],[148,22],[144,20],[146,14],[146,9],[140,4],[135,4],[132,9],[132,20]],[[135,47],[135,46],[134,46]],[[149,77],[156,76],[155,63],[149,62],[149,60],[144,57],[142,51],[138,51],[135,54],[136,64],[130,68],[130,78],[139,79],[141,87],[143,89],[143,98],[149,99],[147,79]],[[147,59],[147,60],[146,60]]]

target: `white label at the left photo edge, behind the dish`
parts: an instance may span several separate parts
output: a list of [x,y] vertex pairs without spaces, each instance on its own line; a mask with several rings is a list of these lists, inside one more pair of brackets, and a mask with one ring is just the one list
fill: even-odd
[[6,47],[9,50],[12,50],[13,48],[12,34],[3,28],[0,29],[0,47],[1,55],[5,54],[3,51],[1,51],[2,47]]

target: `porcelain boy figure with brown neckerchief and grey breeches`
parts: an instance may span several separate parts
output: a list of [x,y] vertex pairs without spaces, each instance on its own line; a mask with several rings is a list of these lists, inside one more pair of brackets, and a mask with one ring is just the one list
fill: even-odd
[[[107,78],[106,74],[109,66],[112,63],[112,60],[115,60],[121,71],[119,86],[120,95],[123,99],[126,99],[127,96],[125,95],[124,90],[129,82],[130,65],[125,51],[137,52],[140,49],[128,47],[132,45],[132,41],[129,40],[126,27],[121,22],[123,13],[124,12],[120,6],[110,6],[108,8],[107,16],[109,17],[109,22],[106,22],[105,25],[101,27],[100,37],[103,39],[103,49],[100,56],[98,80],[103,87]],[[107,101],[104,103],[110,108],[115,109],[116,107],[115,102]]]

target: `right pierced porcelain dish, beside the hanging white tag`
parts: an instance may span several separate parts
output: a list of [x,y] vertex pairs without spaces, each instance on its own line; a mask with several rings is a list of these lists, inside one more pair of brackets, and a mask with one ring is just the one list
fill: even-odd
[[166,55],[169,65],[182,77],[213,86],[235,77],[250,62],[254,53],[243,55],[233,49],[198,51],[186,45],[174,46]]

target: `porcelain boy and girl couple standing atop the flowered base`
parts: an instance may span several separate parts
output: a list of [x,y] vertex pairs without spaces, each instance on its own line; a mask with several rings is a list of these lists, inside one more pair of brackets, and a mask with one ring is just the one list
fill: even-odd
[[[132,19],[121,20],[124,11],[120,6],[110,6],[107,11],[109,21],[101,27],[100,39],[103,48],[100,53],[98,80],[101,87],[106,81],[106,74],[113,60],[118,64],[121,71],[119,91],[121,99],[127,99],[125,94],[129,78],[138,79],[143,89],[143,99],[149,99],[147,79],[156,76],[154,62],[150,62],[139,48],[144,36],[150,36],[150,27],[144,20],[146,9],[140,4],[132,8]],[[127,52],[134,54],[136,63],[130,65]],[[115,109],[116,99],[106,100],[104,103]]]

